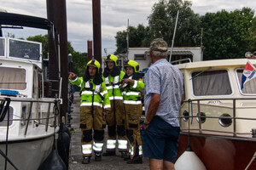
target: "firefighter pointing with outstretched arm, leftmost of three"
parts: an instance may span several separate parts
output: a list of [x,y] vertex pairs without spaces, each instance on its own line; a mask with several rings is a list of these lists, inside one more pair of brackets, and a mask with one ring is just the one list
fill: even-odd
[[84,77],[77,77],[73,72],[69,73],[69,82],[81,89],[80,128],[84,164],[90,163],[92,150],[95,152],[95,161],[102,161],[105,115],[111,111],[108,90],[100,69],[100,63],[92,59],[86,65]]

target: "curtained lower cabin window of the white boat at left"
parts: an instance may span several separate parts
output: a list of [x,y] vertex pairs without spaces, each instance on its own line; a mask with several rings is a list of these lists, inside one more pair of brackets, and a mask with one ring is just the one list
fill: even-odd
[[0,67],[1,89],[26,89],[26,70],[20,68]]

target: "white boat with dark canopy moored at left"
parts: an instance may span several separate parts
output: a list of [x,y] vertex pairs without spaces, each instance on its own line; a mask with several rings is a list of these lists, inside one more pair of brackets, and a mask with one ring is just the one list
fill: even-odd
[[[0,12],[0,28],[17,26],[55,31],[49,20]],[[53,149],[61,99],[45,97],[43,62],[40,42],[0,37],[0,169],[38,169]]]

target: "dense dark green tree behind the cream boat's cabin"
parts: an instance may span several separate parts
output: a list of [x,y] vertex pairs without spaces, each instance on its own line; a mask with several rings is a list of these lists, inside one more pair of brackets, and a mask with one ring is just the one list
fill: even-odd
[[253,29],[250,31],[255,20],[253,15],[251,8],[242,8],[230,13],[223,9],[216,14],[207,13],[202,16],[206,47],[204,59],[243,58],[247,51],[255,48]]

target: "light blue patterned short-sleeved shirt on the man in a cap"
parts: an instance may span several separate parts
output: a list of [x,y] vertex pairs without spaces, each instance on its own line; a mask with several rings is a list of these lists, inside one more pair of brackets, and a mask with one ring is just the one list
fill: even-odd
[[166,59],[159,59],[148,69],[145,76],[144,104],[146,115],[151,94],[160,94],[156,116],[173,127],[179,127],[178,113],[183,95],[183,74]]

